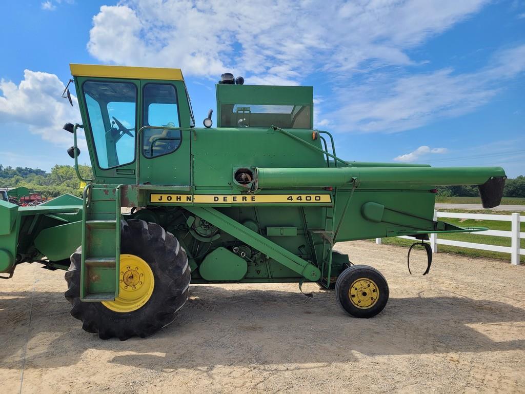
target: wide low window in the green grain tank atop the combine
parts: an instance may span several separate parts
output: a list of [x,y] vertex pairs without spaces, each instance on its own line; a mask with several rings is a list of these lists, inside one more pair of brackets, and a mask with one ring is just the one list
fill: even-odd
[[220,117],[226,127],[311,129],[308,105],[223,104]]

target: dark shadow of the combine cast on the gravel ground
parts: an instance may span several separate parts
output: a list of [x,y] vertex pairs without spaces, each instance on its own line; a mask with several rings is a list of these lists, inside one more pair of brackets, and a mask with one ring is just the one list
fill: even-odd
[[3,368],[20,367],[26,341],[26,368],[74,365],[95,349],[114,352],[106,361],[150,370],[329,364],[352,361],[354,351],[375,356],[525,347],[524,340],[496,342],[467,325],[523,322],[522,309],[455,296],[391,298],[379,316],[355,319],[337,306],[333,292],[319,291],[305,303],[295,292],[197,285],[173,324],[151,338],[121,342],[83,331],[62,293],[35,293],[30,329],[30,294],[2,295]]

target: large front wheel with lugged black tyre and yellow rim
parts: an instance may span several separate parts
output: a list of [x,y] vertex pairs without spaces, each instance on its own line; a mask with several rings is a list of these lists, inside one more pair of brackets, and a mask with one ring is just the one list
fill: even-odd
[[143,220],[121,222],[119,296],[110,302],[80,301],[80,248],[66,272],[71,316],[102,339],[148,337],[170,324],[188,298],[190,267],[173,234]]

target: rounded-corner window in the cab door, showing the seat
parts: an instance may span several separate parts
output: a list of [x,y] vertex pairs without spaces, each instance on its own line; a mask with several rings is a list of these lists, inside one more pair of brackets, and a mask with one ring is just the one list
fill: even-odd
[[[144,126],[180,127],[177,92],[173,85],[148,84],[143,93]],[[143,154],[154,158],[174,152],[181,144],[180,130],[144,129]]]

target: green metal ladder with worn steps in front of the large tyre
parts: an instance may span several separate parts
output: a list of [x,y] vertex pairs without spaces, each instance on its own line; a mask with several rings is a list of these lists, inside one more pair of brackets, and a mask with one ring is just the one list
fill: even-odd
[[80,299],[119,295],[121,186],[89,184],[83,192]]

